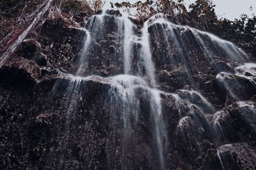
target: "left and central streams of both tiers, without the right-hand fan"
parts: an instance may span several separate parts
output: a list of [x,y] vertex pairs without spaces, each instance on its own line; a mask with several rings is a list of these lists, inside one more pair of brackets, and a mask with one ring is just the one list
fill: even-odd
[[[152,123],[153,129],[150,131],[154,137],[156,144],[157,154],[156,157],[159,159],[159,165],[161,169],[164,168],[164,144],[167,143],[167,135],[165,132],[165,126],[163,121],[163,115],[161,111],[161,91],[156,89],[156,78],[154,76],[154,64],[152,62],[152,56],[150,52],[150,42],[149,42],[149,33],[148,33],[148,22],[145,22],[143,26],[142,36],[134,35],[134,24],[132,24],[131,20],[128,17],[115,17],[113,15],[109,15],[108,11],[100,15],[95,15],[90,19],[86,24],[85,28],[82,31],[86,32],[86,37],[84,38],[83,50],[81,52],[81,56],[77,60],[77,70],[76,76],[68,75],[70,77],[70,82],[67,85],[67,97],[71,98],[70,106],[68,107],[67,112],[67,132],[65,132],[66,136],[68,136],[68,127],[69,127],[69,119],[72,112],[76,109],[76,105],[81,102],[80,96],[81,91],[86,84],[86,81],[90,79],[90,77],[80,77],[81,75],[86,75],[86,69],[90,66],[90,59],[88,54],[93,53],[92,50],[93,40],[100,40],[102,36],[104,36],[104,26],[108,26],[108,22],[113,22],[116,24],[116,39],[115,41],[123,42],[123,65],[124,65],[124,74],[115,75],[113,77],[108,77],[108,83],[111,84],[111,93],[113,95],[114,100],[122,99],[122,107],[123,114],[122,120],[124,121],[124,139],[125,135],[129,134],[129,129],[135,127],[135,124],[138,123],[138,117],[140,114],[140,98],[138,98],[138,89],[143,89],[147,91],[150,95],[150,109],[149,113],[152,117],[150,123]],[[134,72],[131,70],[132,66],[132,48],[134,43],[141,44],[140,52],[140,61],[143,62],[141,65],[145,68],[146,72],[143,77],[147,77],[147,79],[143,79],[141,77],[140,72]],[[140,66],[139,66],[140,67]],[[143,70],[140,68],[139,70]],[[132,75],[134,73],[134,75]],[[100,78],[105,79],[105,78]],[[55,85],[54,91],[58,90],[61,86],[61,82],[57,82]],[[60,147],[65,147],[65,141]],[[124,155],[123,159],[125,160],[125,145],[124,145]],[[125,166],[125,165],[124,165]],[[125,167],[124,167],[125,168]]]

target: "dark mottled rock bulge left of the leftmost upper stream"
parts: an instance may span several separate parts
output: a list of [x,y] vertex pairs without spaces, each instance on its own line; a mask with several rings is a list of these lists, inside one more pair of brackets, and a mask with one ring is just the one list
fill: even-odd
[[86,32],[77,27],[80,26],[61,18],[45,21],[39,42],[42,53],[52,66],[65,70],[75,67],[81,47],[79,42],[81,37],[86,36]]

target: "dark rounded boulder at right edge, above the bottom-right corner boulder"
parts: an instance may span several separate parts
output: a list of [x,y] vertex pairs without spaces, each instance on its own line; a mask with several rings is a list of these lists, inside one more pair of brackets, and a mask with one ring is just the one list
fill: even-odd
[[223,141],[255,141],[255,103],[236,102],[216,112],[211,121]]

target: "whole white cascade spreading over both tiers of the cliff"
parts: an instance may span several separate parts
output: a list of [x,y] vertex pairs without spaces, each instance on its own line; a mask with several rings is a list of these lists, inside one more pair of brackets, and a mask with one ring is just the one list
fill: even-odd
[[[83,31],[86,31],[86,38],[83,43],[83,50],[81,56],[77,62],[77,71],[76,75],[71,75],[71,81],[68,84],[67,93],[69,94],[76,94],[80,96],[79,91],[83,88],[84,82],[88,81],[88,79],[92,79],[92,77],[79,77],[78,75],[86,75],[86,69],[90,67],[90,56],[88,54],[93,54],[92,56],[97,55],[95,51],[93,51],[93,40],[100,40],[104,33],[104,27],[109,26],[109,23],[115,23],[116,29],[116,37],[113,41],[116,43],[116,49],[122,49],[121,57],[122,57],[122,64],[123,64],[123,73],[119,75],[114,75],[111,77],[94,77],[93,79],[102,79],[106,81],[106,84],[111,86],[109,91],[109,95],[111,96],[112,101],[114,103],[118,103],[118,100],[122,100],[122,121],[123,121],[123,128],[124,128],[124,140],[128,139],[129,133],[132,129],[136,127],[136,124],[140,121],[140,105],[141,101],[138,97],[138,91],[143,89],[147,91],[150,95],[150,115],[152,120],[152,136],[154,138],[154,142],[156,144],[157,154],[156,157],[159,159],[159,166],[160,169],[164,169],[165,167],[165,153],[164,149],[166,148],[166,144],[168,143],[167,133],[166,133],[166,126],[164,125],[163,120],[163,113],[162,113],[162,104],[161,104],[161,94],[162,95],[170,95],[175,100],[175,105],[179,109],[179,125],[177,129],[182,131],[182,135],[185,140],[189,139],[192,134],[189,135],[189,126],[193,123],[199,122],[201,123],[204,128],[209,128],[211,126],[211,121],[208,121],[206,118],[202,118],[207,116],[207,114],[212,114],[215,111],[215,108],[204,98],[200,93],[196,91],[188,91],[185,89],[180,89],[175,93],[165,93],[163,91],[159,91],[157,89],[157,82],[155,77],[155,66],[152,59],[152,50],[150,48],[150,33],[148,32],[149,29],[153,29],[153,36],[159,36],[159,30],[163,31],[164,41],[166,46],[166,54],[172,53],[168,51],[168,46],[170,46],[173,42],[176,45],[179,56],[181,59],[179,62],[184,63],[184,65],[188,65],[188,61],[186,60],[186,52],[183,47],[187,47],[189,44],[189,38],[187,37],[186,33],[191,33],[195,37],[195,41],[199,44],[202,50],[205,53],[205,58],[209,58],[209,61],[213,61],[214,56],[212,56],[211,48],[212,46],[216,49],[222,50],[228,57],[232,59],[239,59],[238,56],[246,56],[244,52],[236,47],[234,44],[230,42],[226,42],[217,38],[214,35],[209,33],[205,33],[203,31],[198,31],[197,29],[193,29],[187,26],[178,26],[168,22],[164,15],[156,15],[147,20],[143,24],[141,29],[142,33],[140,35],[135,35],[134,29],[135,25],[131,22],[128,17],[120,17],[109,15],[108,11],[100,15],[94,15],[86,24]],[[151,27],[151,28],[150,28]],[[172,40],[170,42],[170,40]],[[122,44],[122,45],[120,45]],[[139,52],[138,56],[138,70],[132,70],[132,66],[134,66],[132,52],[134,50],[134,45],[140,44],[139,49],[135,49],[136,52]],[[210,48],[211,47],[211,48]],[[118,54],[120,55],[120,54]],[[117,56],[118,56],[117,55]],[[236,58],[233,58],[235,56]],[[176,62],[171,60],[172,62]],[[140,63],[141,62],[141,63]],[[143,67],[142,67],[143,66]],[[189,68],[189,66],[188,66]],[[142,73],[141,70],[145,69],[145,72]],[[236,70],[239,70],[237,68]],[[241,69],[240,69],[241,70]],[[254,73],[254,72],[250,72]],[[245,74],[245,71],[240,71],[240,74]],[[220,77],[220,76],[219,76]],[[253,79],[251,79],[253,82]],[[79,98],[74,98],[74,101],[70,103],[70,109],[76,109],[77,101],[80,100]],[[72,112],[72,111],[68,111]],[[112,111],[113,114],[115,111]],[[199,115],[196,115],[196,112],[200,112]],[[218,116],[218,112],[216,112],[215,116]],[[198,120],[192,120],[195,117]],[[214,120],[216,118],[213,118]],[[204,123],[203,121],[207,121]],[[216,127],[216,121],[212,125]],[[204,124],[204,125],[202,125]],[[218,124],[218,123],[217,123]],[[196,126],[196,125],[195,125]],[[220,125],[218,124],[220,128]],[[218,128],[216,128],[218,131]],[[186,134],[188,132],[188,134]],[[195,134],[194,134],[195,135]],[[127,153],[124,143],[123,148],[123,161],[126,162],[126,155]],[[124,168],[125,165],[124,163]]]

